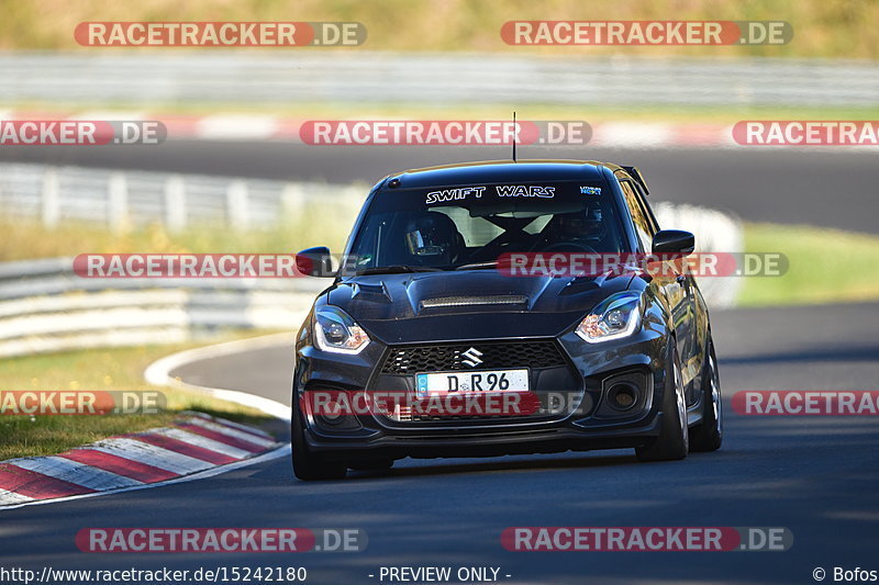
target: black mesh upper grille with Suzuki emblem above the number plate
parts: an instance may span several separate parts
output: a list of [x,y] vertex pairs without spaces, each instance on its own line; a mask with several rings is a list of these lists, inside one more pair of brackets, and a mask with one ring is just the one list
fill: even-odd
[[[481,363],[468,365],[464,356],[477,350]],[[470,353],[472,356],[474,353]],[[391,347],[381,367],[383,374],[413,374],[454,370],[502,370],[509,368],[558,368],[566,365],[555,341],[477,341],[437,346]]]

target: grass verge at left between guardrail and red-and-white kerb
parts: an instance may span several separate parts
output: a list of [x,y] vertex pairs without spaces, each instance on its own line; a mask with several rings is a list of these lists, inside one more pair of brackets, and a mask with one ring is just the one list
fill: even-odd
[[[256,335],[226,334],[224,338]],[[0,461],[46,455],[114,435],[160,427],[181,410],[199,410],[256,426],[270,420],[263,413],[207,395],[152,386],[143,381],[153,361],[203,344],[96,349],[2,360],[0,391],[144,391],[164,393],[166,409],[148,415],[26,416],[0,415]]]

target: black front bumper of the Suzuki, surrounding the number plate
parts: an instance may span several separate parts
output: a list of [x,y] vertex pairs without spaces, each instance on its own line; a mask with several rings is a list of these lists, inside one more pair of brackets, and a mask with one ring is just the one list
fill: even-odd
[[[401,421],[380,414],[357,414],[355,421],[327,425],[303,414],[309,450],[326,459],[404,457],[493,457],[567,450],[631,448],[645,445],[659,432],[661,393],[665,386],[666,333],[643,327],[630,338],[605,344],[585,344],[574,334],[555,339],[470,339],[453,344],[552,341],[564,356],[567,378],[545,380],[564,387],[533,383],[542,402],[548,393],[567,396],[566,408],[512,417],[458,417]],[[293,401],[299,404],[312,390],[412,390],[413,375],[388,376],[381,365],[405,345],[370,344],[358,356],[329,356],[312,346],[298,348]],[[510,364],[513,367],[514,364]],[[556,372],[558,374],[558,372]],[[609,392],[620,380],[638,386],[639,394],[626,409],[611,407]],[[641,381],[641,382],[638,382]],[[390,389],[389,384],[397,384]],[[299,416],[297,412],[294,416]]]

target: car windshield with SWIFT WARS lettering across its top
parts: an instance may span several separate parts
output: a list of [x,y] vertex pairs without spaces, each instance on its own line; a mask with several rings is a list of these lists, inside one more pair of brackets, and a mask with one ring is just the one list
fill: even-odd
[[624,252],[603,184],[385,189],[349,249],[357,273],[493,268],[505,252]]

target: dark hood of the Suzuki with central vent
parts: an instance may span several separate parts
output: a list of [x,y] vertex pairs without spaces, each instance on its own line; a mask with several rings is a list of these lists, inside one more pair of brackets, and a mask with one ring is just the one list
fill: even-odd
[[325,302],[344,310],[386,344],[557,336],[632,273],[509,277],[496,270],[347,278]]

